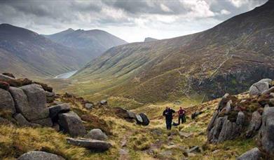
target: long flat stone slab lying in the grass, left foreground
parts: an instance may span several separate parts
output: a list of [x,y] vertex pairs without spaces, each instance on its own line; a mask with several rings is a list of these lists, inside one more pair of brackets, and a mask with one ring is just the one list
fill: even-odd
[[85,147],[87,149],[90,149],[91,151],[99,151],[99,152],[107,151],[112,146],[109,142],[105,142],[102,140],[90,140],[85,138],[81,138],[81,139],[67,138],[67,142],[71,145]]

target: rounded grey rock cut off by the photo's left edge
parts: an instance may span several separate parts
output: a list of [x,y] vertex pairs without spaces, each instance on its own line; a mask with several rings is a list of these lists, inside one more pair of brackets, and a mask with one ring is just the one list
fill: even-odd
[[0,110],[10,111],[11,114],[15,114],[15,105],[11,93],[0,88]]

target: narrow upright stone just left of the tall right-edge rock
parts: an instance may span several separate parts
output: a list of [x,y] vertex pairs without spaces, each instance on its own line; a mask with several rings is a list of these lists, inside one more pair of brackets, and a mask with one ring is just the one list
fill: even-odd
[[252,138],[256,131],[259,131],[259,128],[261,127],[261,114],[256,111],[252,113],[252,119],[250,121],[250,124],[247,128],[246,137]]

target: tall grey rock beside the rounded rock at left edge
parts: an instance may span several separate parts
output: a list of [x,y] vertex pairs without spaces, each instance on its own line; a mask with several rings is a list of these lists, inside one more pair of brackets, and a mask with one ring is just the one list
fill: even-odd
[[46,119],[49,116],[49,110],[46,108],[46,93],[38,84],[29,84],[20,87],[27,95],[29,106],[22,109],[22,114],[29,120],[35,121]]

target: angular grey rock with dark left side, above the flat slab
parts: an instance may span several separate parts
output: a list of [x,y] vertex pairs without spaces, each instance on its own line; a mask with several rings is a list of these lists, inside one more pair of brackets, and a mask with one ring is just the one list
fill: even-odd
[[76,137],[85,135],[85,127],[82,124],[80,117],[74,112],[59,114],[59,124],[62,131]]

